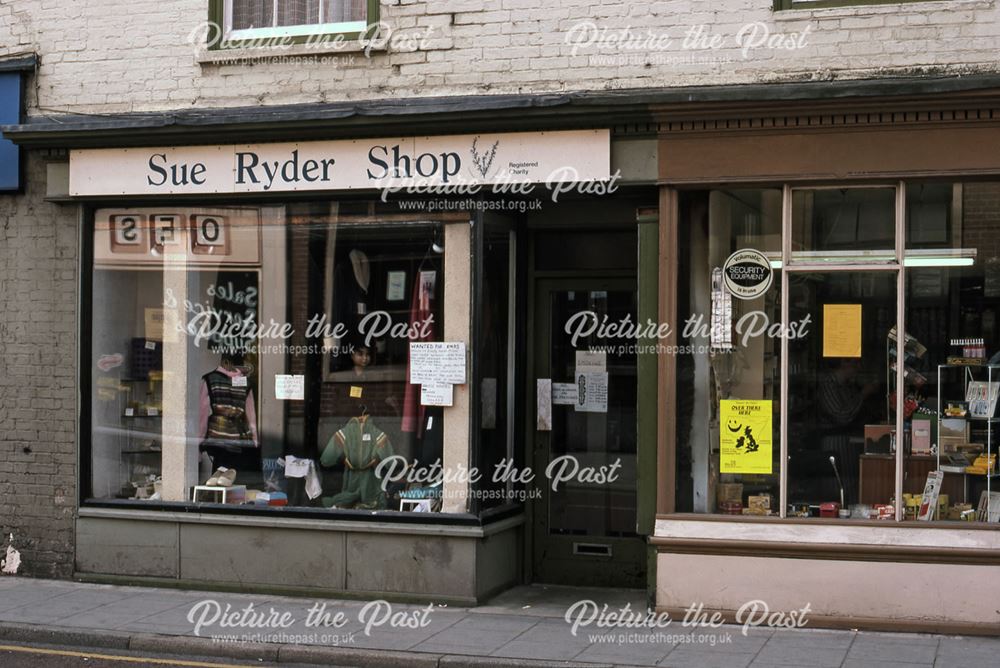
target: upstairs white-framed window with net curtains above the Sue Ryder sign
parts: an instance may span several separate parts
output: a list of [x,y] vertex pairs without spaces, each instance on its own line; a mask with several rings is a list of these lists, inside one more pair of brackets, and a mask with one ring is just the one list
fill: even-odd
[[228,39],[358,33],[377,21],[369,0],[224,0]]

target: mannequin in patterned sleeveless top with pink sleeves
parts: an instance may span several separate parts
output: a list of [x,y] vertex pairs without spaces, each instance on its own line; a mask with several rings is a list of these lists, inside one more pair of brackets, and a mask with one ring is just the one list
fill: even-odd
[[213,471],[220,467],[237,472],[260,470],[257,410],[243,362],[242,353],[224,352],[219,366],[201,379],[200,451],[207,455]]

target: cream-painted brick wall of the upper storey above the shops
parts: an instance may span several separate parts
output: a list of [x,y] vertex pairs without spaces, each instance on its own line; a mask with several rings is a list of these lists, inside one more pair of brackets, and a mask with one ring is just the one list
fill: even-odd
[[[383,0],[393,38],[387,51],[234,65],[209,62],[189,43],[208,18],[208,0],[135,0],[128,12],[114,0],[11,0],[0,4],[0,56],[40,54],[36,114],[997,69],[994,0],[772,7],[772,0]],[[622,50],[605,39],[574,52],[574,40],[594,35],[584,23],[608,39],[629,29],[643,44]],[[744,53],[737,37],[753,25],[792,42],[807,34],[799,49]],[[698,47],[721,41],[685,48],[686,37]]]

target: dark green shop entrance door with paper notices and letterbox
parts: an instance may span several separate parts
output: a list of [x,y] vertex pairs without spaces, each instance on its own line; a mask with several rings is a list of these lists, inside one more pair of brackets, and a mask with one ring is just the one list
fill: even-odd
[[[643,587],[635,341],[588,332],[595,321],[636,322],[636,281],[539,278],[534,287],[533,579]],[[551,404],[545,381],[552,384]]]

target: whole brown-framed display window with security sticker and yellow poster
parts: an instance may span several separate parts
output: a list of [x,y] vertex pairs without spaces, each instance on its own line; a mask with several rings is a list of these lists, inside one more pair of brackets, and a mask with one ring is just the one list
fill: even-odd
[[712,327],[681,328],[678,511],[1000,526],[1000,184],[689,191],[680,213],[680,318]]

